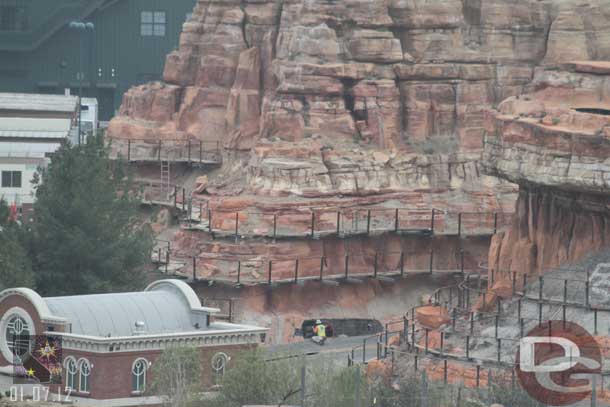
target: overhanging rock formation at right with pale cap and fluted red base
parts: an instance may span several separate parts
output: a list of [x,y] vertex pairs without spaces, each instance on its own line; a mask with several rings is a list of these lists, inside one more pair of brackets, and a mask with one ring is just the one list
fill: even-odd
[[490,268],[542,272],[610,243],[610,63],[539,69],[530,93],[490,114],[487,173],[519,184]]

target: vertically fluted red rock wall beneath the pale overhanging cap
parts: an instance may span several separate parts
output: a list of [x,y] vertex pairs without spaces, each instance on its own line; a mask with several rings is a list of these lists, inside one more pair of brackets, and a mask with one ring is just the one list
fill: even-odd
[[[608,198],[521,185],[517,214],[493,236],[490,270],[496,275],[542,273],[610,244]],[[518,280],[520,281],[520,280]]]

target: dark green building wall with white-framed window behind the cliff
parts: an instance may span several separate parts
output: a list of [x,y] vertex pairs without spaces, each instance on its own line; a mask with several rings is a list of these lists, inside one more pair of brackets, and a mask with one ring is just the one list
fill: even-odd
[[[0,0],[0,92],[78,94],[82,78],[83,95],[109,120],[129,87],[161,78],[195,3]],[[72,21],[94,28],[75,30]]]

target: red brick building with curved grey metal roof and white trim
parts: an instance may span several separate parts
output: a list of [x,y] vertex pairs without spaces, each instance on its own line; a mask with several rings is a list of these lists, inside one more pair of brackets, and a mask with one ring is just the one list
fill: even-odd
[[[52,394],[71,394],[80,405],[158,404],[144,390],[155,359],[170,346],[200,350],[202,388],[212,386],[232,354],[254,348],[266,329],[216,322],[179,280],[160,280],[142,292],[42,298],[27,288],[0,292],[0,373],[4,387],[50,382]],[[40,338],[61,348],[56,364],[40,367]],[[42,348],[45,348],[43,345]],[[38,363],[36,377],[28,373]],[[55,367],[61,365],[61,375]],[[49,367],[51,366],[51,367]],[[49,377],[45,377],[49,370]],[[33,369],[32,369],[33,370]],[[59,385],[61,380],[61,387]],[[5,389],[2,389],[3,391]],[[102,404],[103,403],[103,404]]]

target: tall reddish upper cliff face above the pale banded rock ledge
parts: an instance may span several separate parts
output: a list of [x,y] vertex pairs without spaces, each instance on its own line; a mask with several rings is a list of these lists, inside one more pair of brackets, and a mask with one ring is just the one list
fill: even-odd
[[535,66],[610,57],[609,15],[602,0],[199,0],[166,84],[126,93],[109,134],[479,148],[485,107]]

